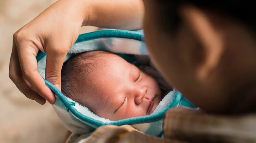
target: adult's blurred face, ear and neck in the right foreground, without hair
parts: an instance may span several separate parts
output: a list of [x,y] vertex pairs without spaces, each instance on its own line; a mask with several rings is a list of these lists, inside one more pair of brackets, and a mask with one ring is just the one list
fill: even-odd
[[145,0],[144,5],[145,42],[169,84],[208,112],[256,110],[256,43],[248,27],[235,19],[183,5],[178,11],[180,27],[172,35],[157,22],[155,2]]

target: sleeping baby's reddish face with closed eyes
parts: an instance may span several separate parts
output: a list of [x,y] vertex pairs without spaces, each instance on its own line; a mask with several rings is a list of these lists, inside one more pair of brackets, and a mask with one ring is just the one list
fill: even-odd
[[110,120],[150,115],[161,100],[156,80],[117,55],[106,56],[100,70],[79,85],[85,105]]

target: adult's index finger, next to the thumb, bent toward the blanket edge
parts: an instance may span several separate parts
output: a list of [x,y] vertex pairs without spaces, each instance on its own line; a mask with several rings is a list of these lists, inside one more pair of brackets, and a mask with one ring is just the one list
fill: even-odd
[[17,46],[19,46],[18,54],[23,77],[41,97],[44,97],[50,104],[54,104],[54,94],[45,85],[44,79],[37,71],[38,49],[36,45],[33,42],[20,42]]

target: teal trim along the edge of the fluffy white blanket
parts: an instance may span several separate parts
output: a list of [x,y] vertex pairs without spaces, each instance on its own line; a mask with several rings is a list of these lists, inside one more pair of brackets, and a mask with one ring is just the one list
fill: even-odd
[[[93,39],[113,38],[113,37],[114,38],[133,39],[133,40],[138,40],[138,41],[143,42],[143,40],[142,40],[143,33],[142,32],[127,31],[127,30],[104,30],[104,31],[96,31],[96,32],[79,35],[79,37],[77,38],[75,43],[80,43],[80,42],[89,41],[89,40],[93,40]],[[108,44],[111,45],[113,43],[108,43]],[[141,47],[140,50],[146,50],[144,43],[142,43],[140,47]],[[146,52],[142,51],[142,53],[146,53]],[[39,51],[36,56],[37,62],[42,60],[45,56],[46,56],[45,53],[43,53],[42,51]],[[134,60],[133,56],[127,58],[127,56],[129,56],[127,54],[120,54],[120,56],[125,58],[129,62],[132,62]],[[58,98],[58,100],[60,100],[60,102],[58,102],[57,104],[58,104],[58,106],[61,106],[61,109],[66,110],[70,116],[72,115],[71,118],[74,118],[74,119],[76,118],[79,120],[76,122],[79,122],[82,125],[89,125],[94,128],[97,128],[101,125],[125,125],[125,124],[126,125],[134,125],[134,124],[156,122],[156,121],[162,120],[164,118],[165,112],[172,107],[177,107],[177,106],[186,106],[186,107],[191,107],[191,108],[194,107],[192,104],[190,104],[188,101],[186,101],[186,99],[184,99],[181,96],[180,92],[175,90],[175,92],[173,92],[172,103],[170,103],[170,105],[167,104],[167,105],[169,105],[169,107],[167,106],[168,108],[162,110],[161,112],[158,112],[156,114],[151,114],[148,116],[128,118],[128,119],[124,119],[124,120],[111,121],[111,122],[105,123],[105,122],[96,120],[94,118],[85,116],[84,114],[77,111],[76,108],[74,108],[74,105],[76,103],[68,101],[68,98],[65,97],[60,92],[59,89],[57,89],[55,86],[53,86],[47,80],[44,79],[44,81],[45,81],[45,84],[54,92],[54,94],[56,95],[56,98]],[[161,137],[163,135],[163,132],[157,132],[157,134],[155,134],[155,135]]]

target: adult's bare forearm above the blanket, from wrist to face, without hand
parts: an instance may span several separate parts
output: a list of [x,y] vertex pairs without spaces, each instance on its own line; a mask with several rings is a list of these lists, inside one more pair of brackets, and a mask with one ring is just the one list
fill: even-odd
[[84,0],[83,25],[103,28],[141,29],[144,5],[141,0]]

